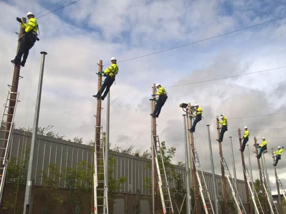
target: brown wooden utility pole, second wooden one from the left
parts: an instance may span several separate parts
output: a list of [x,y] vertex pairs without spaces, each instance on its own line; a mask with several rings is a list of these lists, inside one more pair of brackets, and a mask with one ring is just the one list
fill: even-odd
[[[101,90],[101,82],[102,82],[102,76],[101,76],[101,72],[102,72],[102,60],[99,60],[98,63],[98,82],[97,82],[97,91]],[[100,93],[101,94],[101,93]],[[99,98],[97,98],[97,106],[96,106],[96,125],[95,125],[95,146],[96,146],[96,151],[98,151],[97,155],[101,154],[100,151],[100,133],[101,132],[101,95],[99,96]],[[102,145],[103,146],[103,145]],[[100,165],[99,162],[99,158],[97,160],[94,160],[94,164],[95,161],[97,166]],[[96,208],[96,207],[94,207]],[[102,209],[103,207],[98,207],[99,210]],[[99,211],[97,210],[97,211]],[[95,211],[95,210],[93,210]]]

